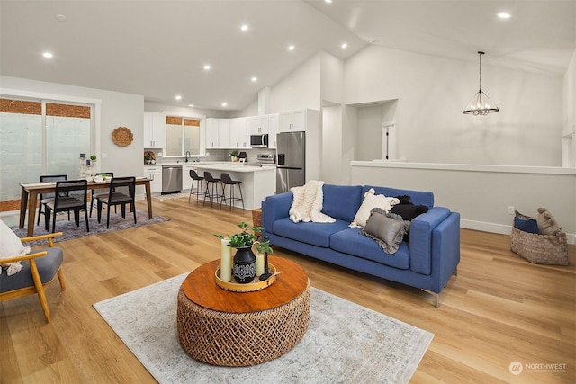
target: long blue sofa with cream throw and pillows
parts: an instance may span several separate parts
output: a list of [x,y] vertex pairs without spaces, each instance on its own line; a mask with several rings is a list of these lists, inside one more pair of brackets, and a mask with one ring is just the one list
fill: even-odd
[[[389,197],[409,195],[412,203],[428,207],[427,213],[411,221],[410,242],[403,241],[392,255],[361,235],[360,228],[348,227],[370,188]],[[322,192],[322,212],[336,222],[293,223],[288,218],[293,193],[281,193],[262,201],[263,238],[302,255],[426,290],[434,295],[438,306],[440,291],[460,263],[459,213],[434,207],[432,192],[332,184],[324,184]]]

